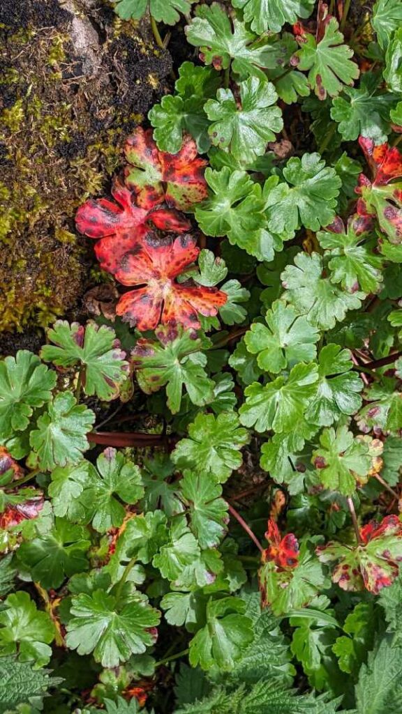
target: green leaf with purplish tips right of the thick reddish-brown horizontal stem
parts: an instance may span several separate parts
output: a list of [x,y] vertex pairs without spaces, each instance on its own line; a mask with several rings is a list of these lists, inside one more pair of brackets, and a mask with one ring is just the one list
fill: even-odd
[[197,414],[184,438],[172,453],[177,468],[189,468],[195,473],[212,473],[217,481],[226,481],[233,469],[242,463],[240,449],[248,442],[248,434],[240,428],[233,412]]

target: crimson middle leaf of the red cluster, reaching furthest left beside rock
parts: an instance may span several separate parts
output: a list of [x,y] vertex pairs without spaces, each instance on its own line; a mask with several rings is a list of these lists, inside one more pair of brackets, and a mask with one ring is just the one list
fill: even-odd
[[112,196],[89,198],[79,207],[76,224],[80,233],[89,238],[100,238],[95,246],[95,254],[104,270],[114,273],[124,253],[132,250],[149,231],[184,233],[190,229],[190,222],[172,208],[149,206],[141,208],[135,201],[135,193],[117,177],[112,186]]

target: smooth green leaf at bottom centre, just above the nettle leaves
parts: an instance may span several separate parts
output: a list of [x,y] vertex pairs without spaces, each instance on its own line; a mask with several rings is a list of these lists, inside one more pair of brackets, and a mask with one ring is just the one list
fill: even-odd
[[207,624],[190,642],[190,664],[208,670],[231,670],[240,659],[242,648],[253,641],[252,620],[244,615],[245,602],[240,598],[209,600]]

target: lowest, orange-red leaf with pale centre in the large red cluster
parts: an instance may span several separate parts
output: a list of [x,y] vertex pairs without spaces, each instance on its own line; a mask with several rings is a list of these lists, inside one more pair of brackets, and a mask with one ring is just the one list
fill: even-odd
[[160,323],[199,328],[197,313],[215,316],[227,301],[226,293],[175,282],[199,252],[190,235],[172,240],[149,233],[122,258],[115,273],[122,285],[136,286],[120,298],[117,315],[140,331],[154,330]]

